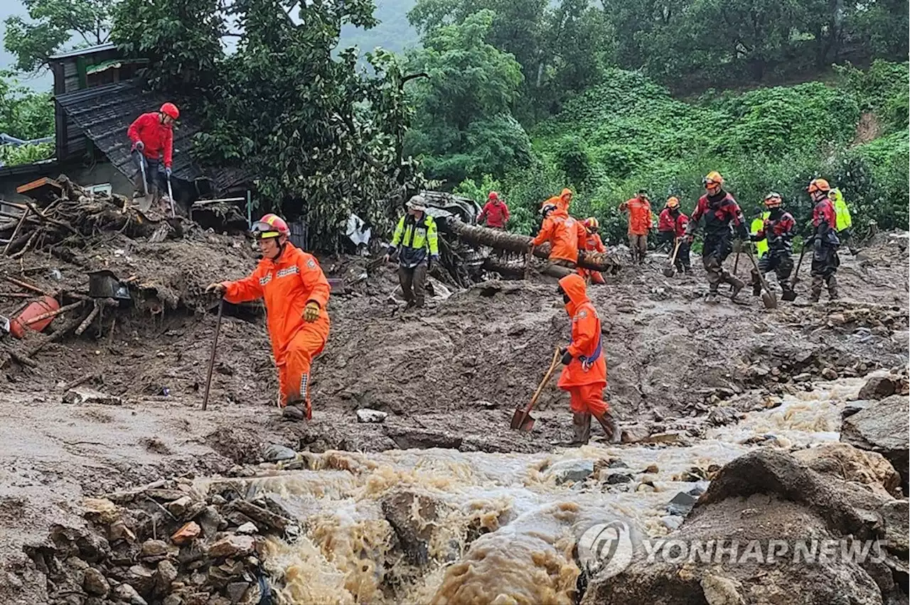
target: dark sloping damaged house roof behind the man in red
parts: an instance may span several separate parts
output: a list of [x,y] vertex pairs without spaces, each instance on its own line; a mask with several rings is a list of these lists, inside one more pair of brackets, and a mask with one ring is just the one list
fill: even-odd
[[[167,99],[163,96],[142,90],[136,80],[56,96],[56,103],[66,115],[85,132],[111,164],[129,179],[136,176],[138,168],[130,158],[131,144],[126,137],[126,129],[139,115],[156,111],[165,102]],[[182,112],[174,128],[174,178],[188,183],[207,180],[217,193],[226,192],[251,180],[252,175],[239,168],[202,168],[194,163],[189,150],[193,144],[193,135],[197,132],[198,121],[194,116]]]

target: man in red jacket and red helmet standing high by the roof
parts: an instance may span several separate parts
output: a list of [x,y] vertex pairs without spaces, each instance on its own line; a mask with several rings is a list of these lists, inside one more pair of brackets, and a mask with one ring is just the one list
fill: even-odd
[[[157,112],[142,114],[126,130],[132,142],[131,154],[136,164],[136,193],[154,195],[167,191],[174,160],[174,122],[180,117],[177,105],[166,103]],[[145,164],[146,183],[140,164]]]

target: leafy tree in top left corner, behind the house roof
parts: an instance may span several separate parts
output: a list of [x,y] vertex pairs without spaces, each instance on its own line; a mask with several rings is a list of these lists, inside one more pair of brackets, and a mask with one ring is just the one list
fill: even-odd
[[6,18],[4,48],[15,55],[15,68],[34,72],[71,40],[76,45],[101,45],[110,32],[116,0],[22,0],[29,20]]

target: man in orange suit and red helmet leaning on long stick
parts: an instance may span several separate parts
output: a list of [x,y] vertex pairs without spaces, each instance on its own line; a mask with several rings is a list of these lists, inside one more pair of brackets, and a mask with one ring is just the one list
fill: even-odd
[[280,217],[266,214],[253,223],[253,235],[262,253],[256,270],[237,282],[213,283],[207,292],[227,302],[265,300],[283,416],[309,420],[310,366],[329,339],[329,281],[315,257],[288,242],[288,223]]

